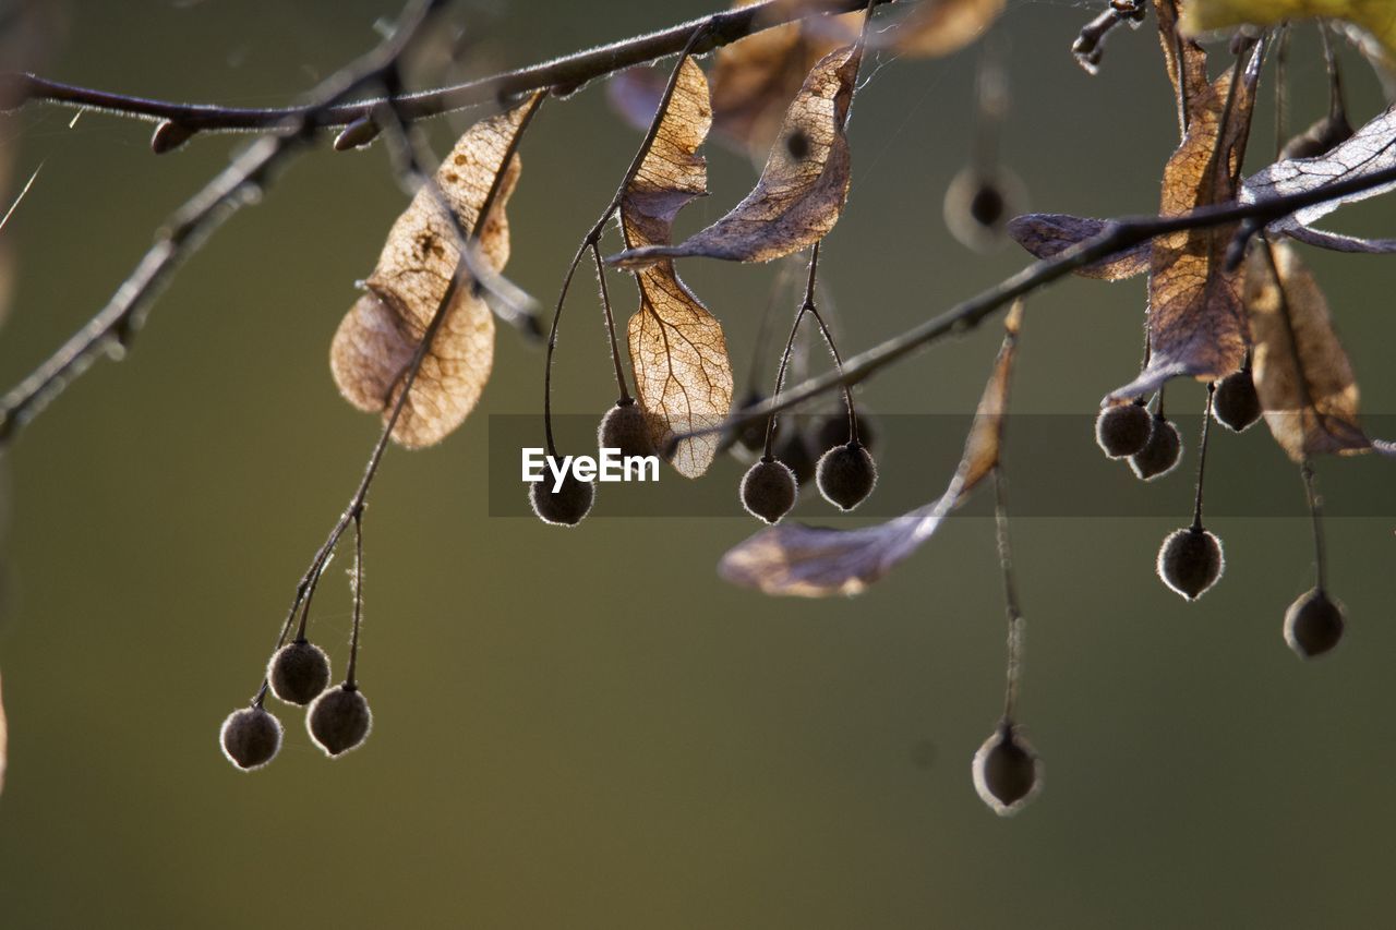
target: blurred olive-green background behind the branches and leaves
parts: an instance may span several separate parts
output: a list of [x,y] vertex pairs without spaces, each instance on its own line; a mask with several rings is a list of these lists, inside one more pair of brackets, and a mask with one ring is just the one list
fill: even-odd
[[[45,71],[114,91],[292,99],[377,39],[383,0],[64,3]],[[697,0],[476,1],[468,73],[525,64],[712,10]],[[1177,141],[1152,21],[1089,78],[1068,46],[1096,4],[1011,3],[1007,159],[1036,209],[1150,212]],[[1025,264],[977,257],[941,221],[965,163],[974,52],[879,57],[854,108],[854,187],[824,271],[845,349],[867,348]],[[1381,108],[1349,61],[1357,120]],[[1325,87],[1294,49],[1295,124]],[[151,230],[240,140],[152,156],[149,126],[31,108],[3,128],[18,180],[0,373],[17,383],[99,307]],[[437,151],[468,117],[433,126]],[[1272,130],[1262,109],[1254,166]],[[511,204],[510,275],[544,303],[638,134],[603,88],[549,102]],[[709,151],[716,218],[751,166]],[[369,743],[327,761],[295,708],[281,757],[244,775],[218,725],[243,704],[300,573],[359,478],[376,420],[339,399],[329,337],[403,195],[384,148],[318,151],[237,215],[155,306],[130,357],[99,362],[21,437],[10,485],[0,669],[4,927],[1357,927],[1396,903],[1393,519],[1329,525],[1339,651],[1301,665],[1286,605],[1312,584],[1307,524],[1222,518],[1227,574],[1196,605],[1153,577],[1177,518],[1020,519],[1029,633],[1022,718],[1044,793],[1001,821],[969,760],[997,719],[1004,623],[993,526],[953,521],[856,600],[771,600],[713,566],[750,518],[607,518],[577,531],[490,518],[489,413],[540,398],[542,355],[501,331],[480,411],[441,447],[392,450],[367,515],[360,676]],[[1390,202],[1351,211],[1390,235]],[[1396,412],[1396,263],[1311,256],[1362,381]],[[691,263],[738,380],[773,270]],[[623,313],[632,293],[617,279]],[[1071,281],[1033,300],[1018,409],[1090,412],[1138,363],[1143,288]],[[557,371],[565,412],[613,399],[585,282]],[[986,327],[884,373],[884,413],[967,412]],[[1170,394],[1201,408],[1202,388]],[[1086,420],[1082,420],[1086,423]],[[1089,427],[1062,443],[1090,443]],[[1191,451],[1192,441],[1188,437]],[[952,458],[952,455],[951,455]],[[1033,469],[1011,451],[1009,473]],[[1263,429],[1219,436],[1209,493],[1290,472]],[[1367,465],[1365,462],[1362,465]],[[1389,464],[1388,464],[1389,465]],[[923,465],[889,445],[888,472]],[[1336,485],[1354,465],[1325,461]],[[1184,469],[1191,472],[1191,458]],[[926,496],[948,478],[924,471]],[[706,480],[736,486],[720,461]],[[666,480],[681,482],[671,472]],[[1132,480],[1100,457],[1062,485]],[[1040,482],[1039,482],[1040,483]],[[1297,476],[1287,485],[1301,493]],[[733,496],[734,497],[734,496]],[[825,519],[807,494],[799,514]],[[341,559],[314,637],[342,667]]]

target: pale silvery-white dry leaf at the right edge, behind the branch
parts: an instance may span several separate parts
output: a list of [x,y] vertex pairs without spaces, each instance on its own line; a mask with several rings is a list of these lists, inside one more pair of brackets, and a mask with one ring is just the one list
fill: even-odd
[[[1328,184],[1396,166],[1396,106],[1357,130],[1337,148],[1315,158],[1291,158],[1276,162],[1247,177],[1241,184],[1241,202],[1251,204],[1289,194],[1318,190]],[[1396,239],[1356,239],[1339,233],[1312,229],[1311,223],[1344,204],[1376,197],[1396,190],[1396,183],[1369,187],[1336,200],[1304,207],[1272,222],[1268,229],[1286,233],[1311,246],[1336,251],[1396,251]]]

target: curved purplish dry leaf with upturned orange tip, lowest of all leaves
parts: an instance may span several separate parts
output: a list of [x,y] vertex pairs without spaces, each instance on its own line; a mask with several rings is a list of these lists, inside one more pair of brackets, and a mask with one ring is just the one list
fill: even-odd
[[800,524],[772,526],[730,549],[718,564],[718,573],[732,584],[758,588],[768,595],[856,595],[916,552],[998,466],[1022,318],[1023,304],[1019,302],[1008,313],[1004,345],[974,412],[959,468],[938,500],[884,524],[859,529]]

